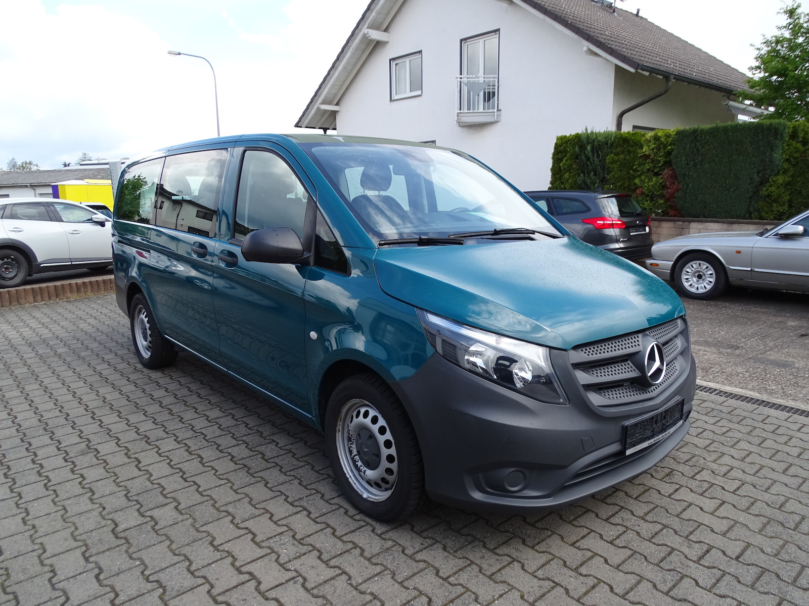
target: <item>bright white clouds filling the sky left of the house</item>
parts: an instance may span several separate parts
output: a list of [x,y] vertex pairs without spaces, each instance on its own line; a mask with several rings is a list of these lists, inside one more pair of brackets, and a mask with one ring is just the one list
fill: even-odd
[[[205,6],[222,30],[178,50],[205,55],[206,36],[234,31],[240,40],[230,55],[207,57],[222,135],[292,130],[364,6],[292,0],[289,23],[274,33],[237,22],[231,29],[221,7]],[[0,23],[0,73],[11,83],[0,88],[3,164],[15,156],[52,168],[83,151],[119,158],[216,136],[209,66],[167,55],[172,43],[149,23],[102,6],[49,12],[39,0],[2,2]]]

